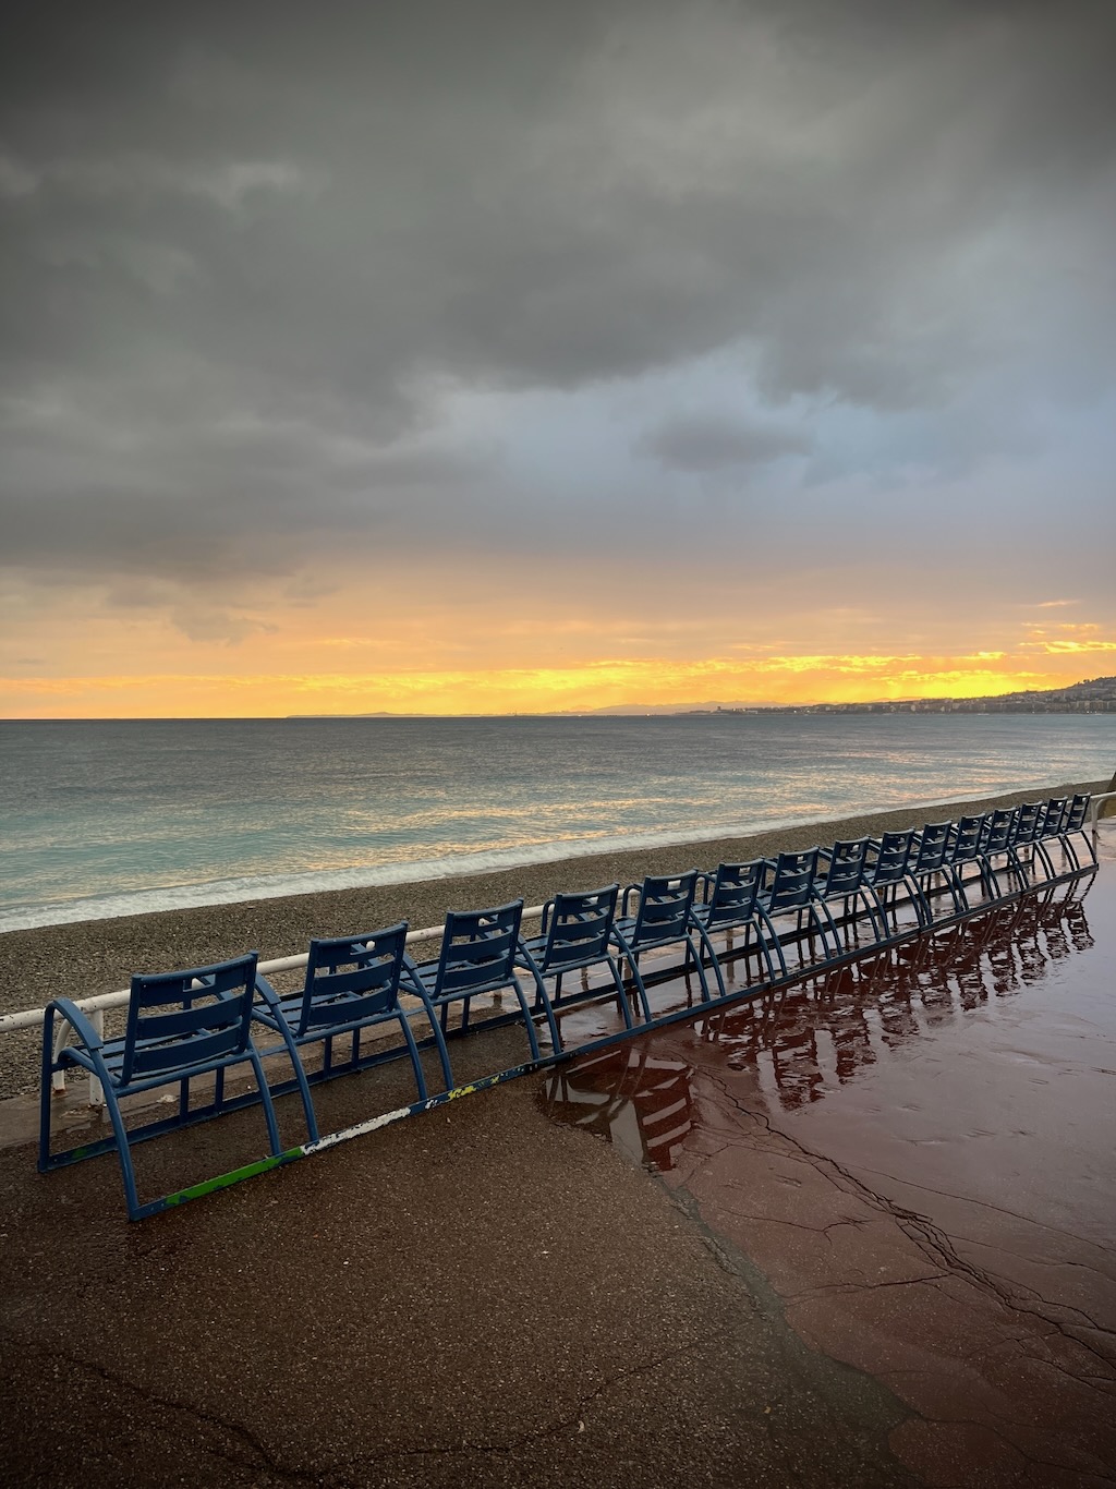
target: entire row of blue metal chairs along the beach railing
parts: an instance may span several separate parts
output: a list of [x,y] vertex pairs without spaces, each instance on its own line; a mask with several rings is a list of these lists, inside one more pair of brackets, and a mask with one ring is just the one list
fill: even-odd
[[[662,965],[671,947],[680,948],[683,969],[693,969],[704,1005],[738,996],[725,978],[726,963],[738,957],[754,957],[760,971],[747,992],[765,990],[802,971],[966,916],[973,908],[973,886],[982,896],[998,899],[1006,884],[1022,890],[1039,877],[1054,881],[1080,873],[1074,840],[1085,843],[1095,865],[1085,834],[1088,806],[1088,797],[1055,798],[878,838],[838,841],[829,849],[720,864],[713,873],[650,876],[622,895],[618,883],[559,893],[543,907],[540,929],[531,937],[522,935],[521,899],[488,910],[451,911],[437,956],[424,962],[406,951],[406,922],[315,940],[304,986],[293,993],[277,992],[260,975],[254,951],[189,971],[141,974],[131,981],[126,1026],[119,1038],[106,1039],[71,999],[57,998],[46,1008],[43,1026],[39,1167],[46,1172],[115,1150],[129,1217],[153,1214],[164,1202],[138,1200],[131,1160],[135,1142],[262,1103],[271,1154],[280,1155],[274,1096],[298,1091],[310,1142],[315,1144],[321,1135],[314,1084],[403,1057],[409,1059],[423,1103],[430,1099],[423,1065],[427,1050],[440,1068],[442,1090],[449,1093],[455,1087],[448,1041],[476,1027],[473,1004],[482,996],[490,1007],[481,1026],[519,1023],[525,1029],[525,1068],[574,1053],[562,1042],[561,1021],[585,1002],[615,998],[622,1033],[652,1026],[662,1015],[652,1007],[649,983],[677,975],[677,957]],[[1061,850],[1058,865],[1055,844]],[[943,913],[936,911],[937,901],[943,901]],[[912,923],[900,923],[906,907],[914,910]],[[737,941],[738,935],[743,940]],[[793,968],[789,950],[796,951]],[[655,977],[646,971],[649,957],[658,959]],[[594,983],[594,972],[604,981]],[[567,980],[573,974],[580,975],[570,990]],[[510,1011],[496,1002],[506,990],[515,996]],[[57,1020],[68,1026],[61,1047]],[[546,1056],[536,1023],[549,1038]],[[384,1027],[396,1027],[399,1042],[382,1042]],[[320,1048],[318,1063],[304,1057],[310,1047]],[[293,1074],[269,1083],[263,1060],[275,1056],[284,1056]],[[250,1068],[254,1088],[226,1093],[225,1074],[235,1065]],[[86,1071],[101,1083],[112,1136],[52,1152],[52,1077],[67,1069]],[[198,1077],[213,1081],[211,1099],[201,1103],[190,1093]],[[179,1087],[176,1111],[140,1126],[125,1123],[125,1097],[173,1084]]]

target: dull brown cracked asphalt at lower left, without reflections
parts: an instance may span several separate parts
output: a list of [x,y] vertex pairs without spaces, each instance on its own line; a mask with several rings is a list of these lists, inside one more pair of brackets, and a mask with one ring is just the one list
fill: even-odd
[[[135,1225],[113,1160],[40,1178],[0,1152],[0,1482],[915,1483],[894,1394],[804,1345],[686,1205],[537,1090]],[[195,1129],[219,1145],[198,1161],[256,1142],[253,1117]],[[140,1150],[141,1184],[174,1144]]]

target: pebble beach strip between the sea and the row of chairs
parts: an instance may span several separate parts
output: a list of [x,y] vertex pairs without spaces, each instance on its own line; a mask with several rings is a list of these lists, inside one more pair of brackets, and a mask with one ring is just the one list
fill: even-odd
[[[594,889],[613,880],[623,889],[644,874],[716,868],[722,861],[768,858],[992,806],[1106,788],[1107,782],[1059,783],[1043,791],[1028,788],[940,803],[930,809],[933,817],[926,816],[927,809],[903,806],[744,837],[592,853],[478,874],[6,931],[0,934],[0,1013],[42,1008],[57,996],[82,999],[116,992],[128,986],[132,972],[201,966],[250,950],[259,951],[260,959],[296,956],[312,937],[373,931],[396,920],[408,920],[412,929],[440,926],[448,910],[476,910],[519,898],[537,905],[558,890]],[[0,1035],[0,1100],[37,1088],[39,1060],[36,1029]]]

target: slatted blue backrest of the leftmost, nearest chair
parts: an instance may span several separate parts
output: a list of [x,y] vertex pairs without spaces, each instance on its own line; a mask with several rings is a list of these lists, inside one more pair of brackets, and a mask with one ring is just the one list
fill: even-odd
[[250,1042],[257,951],[131,983],[121,1081],[213,1069]]

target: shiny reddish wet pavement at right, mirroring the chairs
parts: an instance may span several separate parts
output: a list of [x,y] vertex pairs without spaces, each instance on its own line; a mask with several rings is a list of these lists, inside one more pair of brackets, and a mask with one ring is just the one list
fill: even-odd
[[[1112,856],[1112,855],[1110,855]],[[1116,864],[557,1071],[909,1409],[929,1485],[1116,1482]]]

